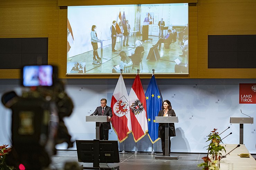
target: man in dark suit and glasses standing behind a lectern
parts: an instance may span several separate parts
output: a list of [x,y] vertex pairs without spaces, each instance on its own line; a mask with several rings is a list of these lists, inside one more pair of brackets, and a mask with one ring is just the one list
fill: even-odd
[[[99,107],[96,108],[96,110],[93,112],[92,115],[95,114],[95,116],[108,116],[108,119],[110,120],[112,115],[112,109],[111,107],[107,106],[107,99],[103,98],[100,100]],[[91,115],[91,116],[92,116]],[[100,140],[108,140],[108,131],[111,129],[110,122],[102,122],[100,125]]]

